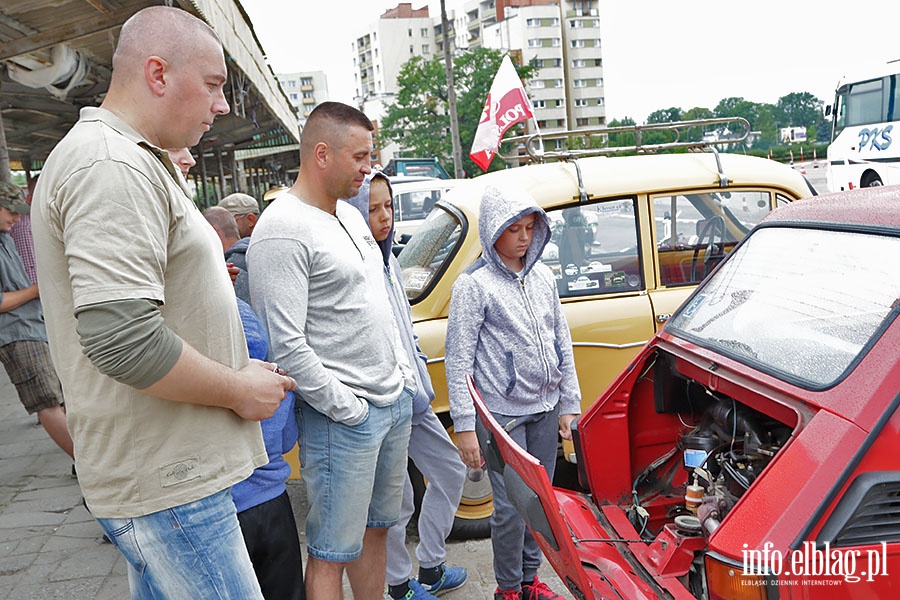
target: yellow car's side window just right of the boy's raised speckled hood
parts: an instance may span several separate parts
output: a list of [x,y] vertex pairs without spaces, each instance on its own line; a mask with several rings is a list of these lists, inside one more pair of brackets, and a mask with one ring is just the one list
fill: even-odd
[[635,213],[631,199],[547,211],[552,233],[541,260],[561,298],[644,288]]

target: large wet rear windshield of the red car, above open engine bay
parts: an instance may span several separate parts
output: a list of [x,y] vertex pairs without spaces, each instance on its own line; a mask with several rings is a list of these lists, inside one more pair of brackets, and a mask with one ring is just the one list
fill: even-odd
[[803,387],[829,387],[895,316],[898,253],[894,237],[760,229],[666,331]]

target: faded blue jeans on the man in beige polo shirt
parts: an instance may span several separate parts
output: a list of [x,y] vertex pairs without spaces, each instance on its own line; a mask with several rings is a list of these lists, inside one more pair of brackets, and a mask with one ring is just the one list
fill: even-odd
[[262,600],[231,489],[131,519],[97,519],[128,563],[133,600]]

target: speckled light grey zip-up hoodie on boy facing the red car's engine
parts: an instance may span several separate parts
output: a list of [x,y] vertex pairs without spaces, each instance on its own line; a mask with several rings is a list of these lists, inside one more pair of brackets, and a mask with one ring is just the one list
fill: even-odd
[[[581,413],[572,337],[556,279],[540,262],[550,241],[547,214],[524,190],[488,187],[481,198],[482,255],[453,284],[447,323],[446,367],[450,416],[456,431],[475,429],[466,388],[471,374],[492,412],[519,416]],[[494,243],[507,227],[535,214],[534,237],[513,273]]]

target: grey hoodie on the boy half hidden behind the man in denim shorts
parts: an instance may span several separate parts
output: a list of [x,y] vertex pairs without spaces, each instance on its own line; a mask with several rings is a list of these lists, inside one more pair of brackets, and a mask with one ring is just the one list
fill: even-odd
[[[375,177],[381,177],[388,184],[388,190],[391,190],[391,197],[394,192],[391,189],[391,182],[388,176],[380,171],[375,171],[366,178],[359,193],[347,200],[351,205],[356,207],[362,213],[363,218],[369,221],[369,184]],[[403,349],[406,350],[406,356],[409,358],[411,365],[415,366],[416,374],[416,395],[413,398],[413,414],[421,414],[428,409],[431,401],[434,400],[434,387],[431,384],[431,377],[428,375],[428,357],[419,348],[418,337],[412,326],[412,311],[409,308],[409,300],[406,298],[406,288],[403,287],[403,276],[400,272],[400,263],[391,251],[394,239],[394,230],[391,229],[387,238],[378,242],[381,248],[381,255],[384,258],[384,284],[387,287],[388,300],[391,303],[391,309],[394,312],[394,320],[397,322],[397,328],[400,330],[400,340],[403,342]]]

